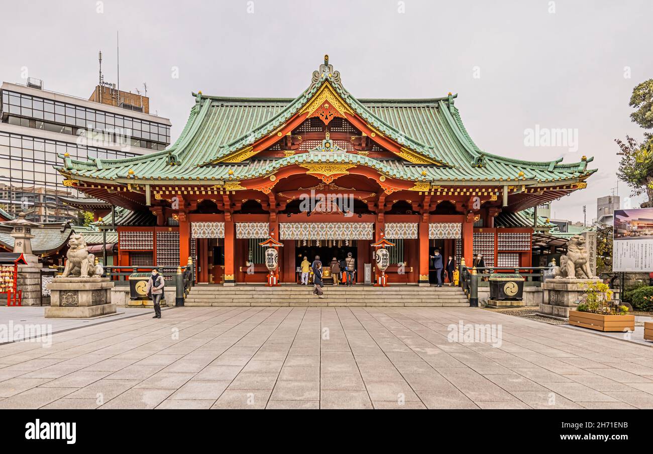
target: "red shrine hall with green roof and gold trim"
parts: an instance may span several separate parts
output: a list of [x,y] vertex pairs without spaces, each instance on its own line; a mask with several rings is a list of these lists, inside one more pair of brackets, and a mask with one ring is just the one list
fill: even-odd
[[[485,255],[486,266],[531,266],[526,208],[586,187],[591,158],[532,162],[483,152],[456,95],[357,99],[325,56],[296,99],[193,93],[180,137],[127,159],[63,155],[65,184],[118,207],[118,265],[176,267],[195,257],[197,280],[264,282],[259,242],[274,238],[280,282],[302,258],[352,252],[357,282],[386,238],[388,282],[426,284],[429,255]],[[251,265],[250,265],[251,264]],[[403,265],[402,265],[403,264]],[[374,276],[368,276],[374,280]]]

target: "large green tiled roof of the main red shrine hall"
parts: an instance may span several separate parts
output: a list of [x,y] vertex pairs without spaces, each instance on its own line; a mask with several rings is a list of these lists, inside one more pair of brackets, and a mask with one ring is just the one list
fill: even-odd
[[[351,162],[370,165],[387,175],[433,184],[453,181],[491,182],[509,178],[519,184],[541,182],[577,182],[596,170],[587,165],[592,158],[577,163],[532,162],[500,157],[483,152],[468,134],[458,108],[456,95],[432,99],[356,99],[340,82],[340,74],[330,65],[315,71],[313,82],[295,99],[233,98],[195,95],[183,131],[167,150],[129,159],[64,159],[61,169],[71,178],[82,180],[118,180],[120,183],[147,180],[194,180],[197,184],[215,184],[212,180],[243,180],[266,175],[283,165],[305,162]],[[396,161],[379,161],[358,154],[296,154],[280,159],[256,159],[239,164],[212,161],[238,152],[270,135],[296,114],[317,91],[330,86],[349,107],[387,137],[442,165],[417,166]],[[172,164],[172,165],[171,165]],[[427,175],[421,171],[426,169]],[[133,170],[133,175],[129,175]],[[229,175],[229,170],[233,174]],[[131,178],[130,178],[131,177]]]

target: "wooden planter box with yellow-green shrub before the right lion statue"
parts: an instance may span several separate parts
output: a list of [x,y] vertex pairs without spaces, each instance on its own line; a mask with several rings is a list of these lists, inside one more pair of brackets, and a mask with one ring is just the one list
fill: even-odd
[[569,325],[597,331],[635,331],[635,316],[626,306],[615,306],[607,284],[587,284],[585,301],[569,311]]

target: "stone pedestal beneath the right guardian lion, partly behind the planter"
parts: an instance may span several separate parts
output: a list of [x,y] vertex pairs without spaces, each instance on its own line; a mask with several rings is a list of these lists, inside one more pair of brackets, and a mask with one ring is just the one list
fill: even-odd
[[600,279],[547,279],[542,284],[544,298],[539,305],[539,312],[543,316],[569,318],[569,310],[575,309],[577,301],[587,289],[587,284],[600,283]]

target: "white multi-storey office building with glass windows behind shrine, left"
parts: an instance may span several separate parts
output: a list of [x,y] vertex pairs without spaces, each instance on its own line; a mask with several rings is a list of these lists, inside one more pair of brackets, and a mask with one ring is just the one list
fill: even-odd
[[120,159],[170,144],[167,118],[6,82],[0,92],[0,208],[14,216],[78,218],[59,200],[80,195],[63,186],[54,169],[63,164],[57,155]]

